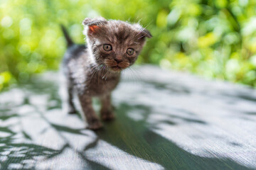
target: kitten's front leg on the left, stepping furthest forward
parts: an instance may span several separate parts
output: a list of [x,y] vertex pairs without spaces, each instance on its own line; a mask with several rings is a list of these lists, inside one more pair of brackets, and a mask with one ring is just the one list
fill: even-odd
[[100,123],[99,118],[97,118],[97,115],[92,108],[92,98],[83,94],[79,96],[79,101],[82,106],[82,111],[85,114],[88,128],[91,130],[97,130],[102,128],[102,123]]

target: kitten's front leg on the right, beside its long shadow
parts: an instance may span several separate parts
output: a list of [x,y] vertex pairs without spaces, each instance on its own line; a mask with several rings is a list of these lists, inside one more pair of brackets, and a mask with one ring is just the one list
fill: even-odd
[[112,111],[112,104],[111,104],[111,95],[107,94],[100,98],[102,103],[102,108],[100,109],[100,116],[102,120],[112,120],[114,119],[114,113]]

